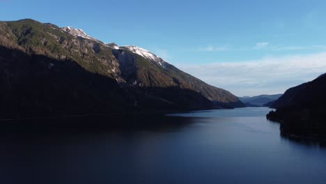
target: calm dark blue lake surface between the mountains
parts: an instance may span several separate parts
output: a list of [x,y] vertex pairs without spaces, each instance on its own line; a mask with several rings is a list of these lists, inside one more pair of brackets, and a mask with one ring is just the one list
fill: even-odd
[[[170,114],[146,127],[1,138],[0,183],[326,183],[326,149],[280,136],[270,109]],[[142,121],[137,119],[136,121]],[[182,123],[180,123],[182,122]]]

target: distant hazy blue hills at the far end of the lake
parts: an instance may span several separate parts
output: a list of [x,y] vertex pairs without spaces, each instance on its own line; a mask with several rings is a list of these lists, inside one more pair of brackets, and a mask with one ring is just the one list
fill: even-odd
[[241,100],[247,107],[261,107],[266,106],[267,103],[272,102],[274,100],[277,100],[281,94],[277,95],[257,95],[253,97],[244,96],[239,97],[239,100]]

